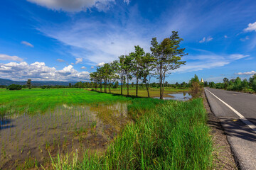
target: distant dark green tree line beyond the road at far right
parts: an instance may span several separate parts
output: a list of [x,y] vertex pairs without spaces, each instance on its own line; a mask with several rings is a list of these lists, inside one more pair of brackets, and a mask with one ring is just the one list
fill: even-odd
[[236,79],[223,79],[223,83],[217,83],[210,82],[208,84],[211,88],[216,89],[226,89],[230,91],[250,91],[252,89],[256,92],[256,74],[254,74],[252,77],[250,77],[249,80],[247,79],[240,79],[240,77],[237,77]]

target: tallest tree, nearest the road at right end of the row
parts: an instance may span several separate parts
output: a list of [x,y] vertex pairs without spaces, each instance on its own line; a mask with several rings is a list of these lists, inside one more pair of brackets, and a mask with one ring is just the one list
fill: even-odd
[[165,38],[161,43],[157,42],[156,38],[151,40],[151,52],[156,59],[155,73],[158,75],[160,83],[160,99],[164,96],[164,81],[166,74],[170,74],[171,70],[178,69],[185,61],[181,61],[181,57],[187,55],[180,48],[179,44],[183,40],[179,38],[178,32],[173,31],[170,38]]

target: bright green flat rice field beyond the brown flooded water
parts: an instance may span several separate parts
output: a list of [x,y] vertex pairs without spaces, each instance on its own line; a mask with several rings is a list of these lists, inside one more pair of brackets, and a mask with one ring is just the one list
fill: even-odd
[[[165,94],[188,91],[188,89],[167,89]],[[121,94],[120,89],[112,89],[113,94]],[[136,89],[130,89],[129,94],[135,96]],[[127,94],[124,89],[123,94]],[[146,97],[146,89],[139,89],[139,96]],[[159,89],[150,90],[151,97],[159,97]],[[53,109],[62,103],[67,105],[88,103],[112,103],[115,101],[129,101],[132,98],[95,93],[85,89],[22,89],[8,91],[0,89],[0,115],[5,113],[37,113]]]

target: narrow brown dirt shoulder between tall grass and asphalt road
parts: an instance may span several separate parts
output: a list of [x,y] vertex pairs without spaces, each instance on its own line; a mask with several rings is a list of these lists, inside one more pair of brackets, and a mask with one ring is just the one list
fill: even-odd
[[214,169],[238,169],[230,145],[223,130],[220,120],[211,111],[208,104],[206,94],[203,92],[203,104],[208,113],[208,126],[210,127],[210,135],[213,136],[214,147]]

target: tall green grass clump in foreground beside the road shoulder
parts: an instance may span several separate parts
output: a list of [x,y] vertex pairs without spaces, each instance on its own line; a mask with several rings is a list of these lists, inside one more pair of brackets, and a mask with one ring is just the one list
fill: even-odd
[[[144,99],[146,101],[146,99]],[[105,154],[81,162],[53,160],[55,169],[211,169],[213,146],[201,98],[188,102],[140,100],[129,106],[143,115],[127,125]],[[157,101],[158,102],[158,101]],[[149,109],[151,108],[151,109]],[[60,156],[59,156],[60,157]],[[65,166],[62,166],[65,162]],[[71,165],[72,164],[72,165]]]

